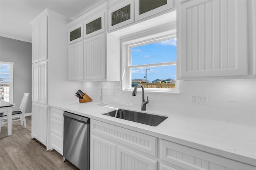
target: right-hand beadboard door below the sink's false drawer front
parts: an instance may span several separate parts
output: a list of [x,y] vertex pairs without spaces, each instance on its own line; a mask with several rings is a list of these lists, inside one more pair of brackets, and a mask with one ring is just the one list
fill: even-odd
[[157,161],[122,146],[117,146],[118,170],[156,170]]

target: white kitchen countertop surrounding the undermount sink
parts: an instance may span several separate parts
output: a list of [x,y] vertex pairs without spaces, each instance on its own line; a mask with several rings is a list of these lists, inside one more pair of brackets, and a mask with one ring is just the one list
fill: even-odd
[[[54,103],[49,106],[256,166],[256,127],[254,126],[168,113],[165,121],[153,127],[102,115],[114,110],[110,107],[137,111],[140,111],[140,108],[97,104],[74,101]],[[153,114],[166,115],[160,112]]]

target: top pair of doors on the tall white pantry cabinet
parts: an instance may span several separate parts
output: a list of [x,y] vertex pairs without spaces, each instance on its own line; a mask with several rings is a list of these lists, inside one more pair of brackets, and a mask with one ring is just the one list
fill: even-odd
[[47,16],[32,26],[32,63],[47,59]]

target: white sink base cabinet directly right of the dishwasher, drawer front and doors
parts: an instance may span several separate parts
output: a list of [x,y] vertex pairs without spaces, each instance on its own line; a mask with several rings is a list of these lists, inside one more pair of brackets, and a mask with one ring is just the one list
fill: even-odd
[[157,170],[152,156],[156,140],[151,137],[91,119],[90,169]]

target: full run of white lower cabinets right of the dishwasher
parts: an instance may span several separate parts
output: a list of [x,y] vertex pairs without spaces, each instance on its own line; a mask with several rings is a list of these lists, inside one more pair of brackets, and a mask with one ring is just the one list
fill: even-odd
[[91,170],[255,170],[256,167],[91,119]]

